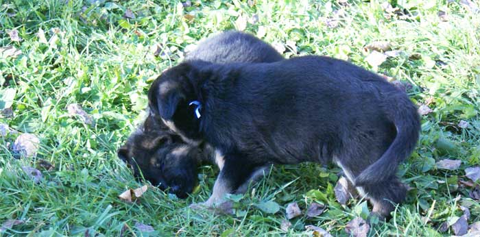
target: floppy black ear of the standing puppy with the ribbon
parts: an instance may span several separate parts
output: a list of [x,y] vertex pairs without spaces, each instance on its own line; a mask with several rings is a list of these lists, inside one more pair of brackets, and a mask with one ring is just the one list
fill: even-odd
[[148,91],[150,110],[166,120],[170,120],[175,114],[182,99],[184,99],[182,88],[176,82],[160,82],[160,79],[156,79]]

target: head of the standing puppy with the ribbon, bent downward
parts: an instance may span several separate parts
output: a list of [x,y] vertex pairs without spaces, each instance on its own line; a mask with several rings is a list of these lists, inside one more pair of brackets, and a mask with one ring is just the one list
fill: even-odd
[[[169,68],[155,79],[148,91],[148,103],[152,114],[159,115],[171,130],[182,136],[185,142],[200,141],[200,119],[192,101],[203,103],[199,82],[204,77],[200,68],[205,62],[184,62]],[[200,114],[202,111],[200,110]]]

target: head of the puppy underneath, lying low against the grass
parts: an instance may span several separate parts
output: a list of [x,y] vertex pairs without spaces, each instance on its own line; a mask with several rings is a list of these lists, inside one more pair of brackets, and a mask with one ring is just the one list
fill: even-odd
[[197,182],[200,154],[168,130],[152,129],[151,123],[147,118],[143,130],[132,134],[117,155],[132,168],[135,177],[144,177],[154,186],[185,198]]

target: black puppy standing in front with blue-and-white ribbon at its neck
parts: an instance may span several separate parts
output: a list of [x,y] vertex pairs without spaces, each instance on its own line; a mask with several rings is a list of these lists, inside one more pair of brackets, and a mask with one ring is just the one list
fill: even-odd
[[381,216],[405,198],[398,163],[420,131],[405,92],[363,68],[306,56],[261,64],[185,62],[158,77],[149,106],[165,125],[206,141],[222,163],[212,196],[221,202],[269,163],[335,162]]

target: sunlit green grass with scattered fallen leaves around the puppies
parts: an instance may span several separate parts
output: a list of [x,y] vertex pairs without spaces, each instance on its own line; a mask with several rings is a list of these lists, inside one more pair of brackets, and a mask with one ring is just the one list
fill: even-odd
[[[186,200],[156,188],[134,204],[117,197],[144,184],[115,151],[141,122],[149,83],[182,60],[188,45],[245,23],[245,31],[285,47],[286,57],[350,60],[409,82],[418,105],[430,102],[433,111],[422,116],[418,148],[400,166],[400,177],[412,188],[407,201],[392,220],[374,224],[370,236],[450,236],[452,229],[442,232],[440,226],[455,222],[460,205],[470,208],[469,224],[480,221],[480,204],[464,185],[469,182],[464,169],[480,163],[479,14],[460,1],[392,2],[405,15],[388,14],[383,1],[339,2],[0,0],[0,47],[21,50],[16,58],[0,58],[0,109],[13,111],[0,115],[0,123],[40,138],[36,158],[19,158],[12,152],[19,134],[0,136],[0,222],[24,221],[0,236],[302,236],[310,233],[304,225],[348,236],[346,223],[368,210],[361,199],[345,206],[335,201],[334,166],[274,167],[267,179],[235,197],[241,198],[235,216],[188,208],[208,198],[217,173],[213,166],[200,168],[200,188]],[[10,38],[12,29],[20,42]],[[375,41],[391,42],[400,55],[370,66],[363,47]],[[69,116],[71,103],[82,105],[93,125]],[[435,162],[445,158],[461,160],[461,166],[437,169]],[[34,167],[40,159],[55,168],[40,169],[43,181],[36,184],[21,167]],[[268,201],[280,211],[257,208]],[[280,223],[292,201],[302,210],[312,201],[328,209],[313,219],[292,219],[285,232]],[[155,231],[142,232],[136,223]]]

